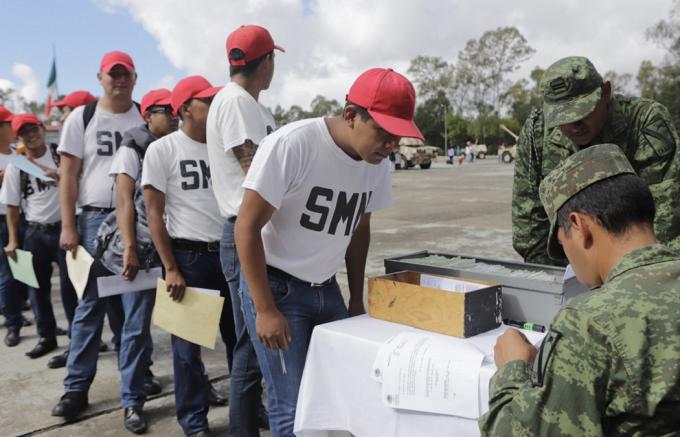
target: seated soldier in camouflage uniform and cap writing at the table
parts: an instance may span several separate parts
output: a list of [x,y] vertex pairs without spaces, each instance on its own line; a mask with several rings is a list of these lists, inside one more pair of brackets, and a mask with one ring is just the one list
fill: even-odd
[[539,350],[514,329],[499,337],[482,434],[679,435],[680,255],[656,244],[646,181],[605,144],[566,158],[540,196],[548,253],[593,288]]

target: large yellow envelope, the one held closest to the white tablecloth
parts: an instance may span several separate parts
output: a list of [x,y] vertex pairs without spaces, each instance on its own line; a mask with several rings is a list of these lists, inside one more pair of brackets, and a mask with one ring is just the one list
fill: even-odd
[[187,287],[181,302],[170,298],[165,281],[156,283],[153,323],[194,344],[215,349],[224,298]]

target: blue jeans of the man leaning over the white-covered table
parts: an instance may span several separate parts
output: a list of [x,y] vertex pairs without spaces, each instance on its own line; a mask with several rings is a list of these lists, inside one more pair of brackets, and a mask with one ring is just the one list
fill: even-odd
[[[255,305],[244,277],[241,277],[241,304],[266,382],[272,436],[292,437],[300,380],[312,330],[316,325],[347,318],[348,313],[335,278],[328,285],[311,287],[309,283],[294,278],[281,280],[269,275],[269,286],[276,308],[288,321],[293,339],[288,350],[270,349],[257,339]],[[281,360],[285,362],[285,374]]]

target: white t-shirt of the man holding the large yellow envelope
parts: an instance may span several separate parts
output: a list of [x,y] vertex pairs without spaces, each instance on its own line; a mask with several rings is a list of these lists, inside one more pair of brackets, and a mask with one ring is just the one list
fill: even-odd
[[165,193],[171,238],[219,241],[224,220],[212,190],[205,143],[181,129],[149,144],[144,154],[142,186]]

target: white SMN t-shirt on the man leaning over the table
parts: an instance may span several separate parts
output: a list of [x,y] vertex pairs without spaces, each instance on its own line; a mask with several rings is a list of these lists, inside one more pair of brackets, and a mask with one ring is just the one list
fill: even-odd
[[389,161],[350,158],[323,118],[291,123],[265,138],[243,187],[276,208],[262,229],[267,264],[310,282],[340,269],[364,212],[392,203]]

